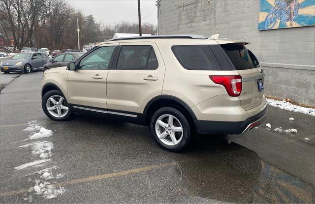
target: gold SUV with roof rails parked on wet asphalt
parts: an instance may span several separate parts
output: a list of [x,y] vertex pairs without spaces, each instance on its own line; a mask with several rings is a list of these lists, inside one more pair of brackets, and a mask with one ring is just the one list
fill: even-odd
[[246,44],[201,35],[111,39],[46,70],[42,108],[53,120],[80,113],[150,126],[171,151],[195,132],[244,133],[267,115],[265,74]]

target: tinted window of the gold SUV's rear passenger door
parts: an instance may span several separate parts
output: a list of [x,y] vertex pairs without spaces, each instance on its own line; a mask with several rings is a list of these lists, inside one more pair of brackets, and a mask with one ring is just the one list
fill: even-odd
[[156,69],[158,59],[150,45],[122,46],[119,54],[118,69]]

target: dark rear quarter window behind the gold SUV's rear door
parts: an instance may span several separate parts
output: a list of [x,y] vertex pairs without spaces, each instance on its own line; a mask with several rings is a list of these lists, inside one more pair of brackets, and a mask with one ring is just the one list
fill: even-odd
[[221,66],[209,45],[176,45],[172,51],[185,69],[221,70]]

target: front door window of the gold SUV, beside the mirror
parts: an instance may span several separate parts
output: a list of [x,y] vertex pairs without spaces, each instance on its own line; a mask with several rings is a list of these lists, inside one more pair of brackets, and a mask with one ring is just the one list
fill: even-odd
[[108,69],[115,46],[100,47],[80,61],[79,69]]

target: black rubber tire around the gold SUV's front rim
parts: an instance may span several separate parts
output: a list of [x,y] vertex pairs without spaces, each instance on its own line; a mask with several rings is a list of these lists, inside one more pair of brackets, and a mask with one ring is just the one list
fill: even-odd
[[[62,105],[68,107],[68,112],[63,117],[55,117],[52,114],[50,114],[50,112],[47,110],[47,101],[50,100],[49,98],[51,96],[61,96],[64,98]],[[59,90],[50,90],[47,93],[45,93],[45,95],[43,96],[43,98],[41,100],[41,106],[42,106],[42,109],[43,109],[45,115],[52,120],[64,121],[64,120],[69,120],[73,116],[72,109],[69,107],[63,93]]]

